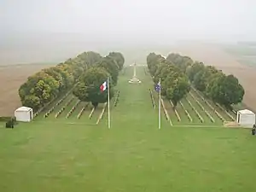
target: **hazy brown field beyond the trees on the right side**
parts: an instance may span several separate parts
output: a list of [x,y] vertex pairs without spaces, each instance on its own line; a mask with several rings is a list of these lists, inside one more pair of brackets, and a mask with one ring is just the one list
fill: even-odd
[[246,94],[243,102],[254,111],[256,110],[256,67],[248,67],[236,61],[235,56],[229,55],[215,44],[180,44],[172,52],[189,55],[193,60],[203,61],[206,65],[212,65],[231,73],[239,79]]

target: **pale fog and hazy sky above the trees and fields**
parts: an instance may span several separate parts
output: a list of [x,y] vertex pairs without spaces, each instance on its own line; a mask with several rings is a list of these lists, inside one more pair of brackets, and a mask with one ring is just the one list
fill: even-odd
[[63,61],[85,50],[138,60],[177,41],[256,40],[255,9],[253,0],[1,0],[0,65]]

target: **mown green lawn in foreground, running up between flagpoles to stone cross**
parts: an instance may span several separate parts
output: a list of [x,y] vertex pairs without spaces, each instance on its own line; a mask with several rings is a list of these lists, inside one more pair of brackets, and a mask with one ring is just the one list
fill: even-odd
[[164,114],[158,130],[151,79],[143,68],[137,73],[142,84],[127,83],[131,69],[119,77],[110,130],[107,113],[99,125],[87,117],[73,118],[77,124],[40,118],[1,129],[0,190],[253,191],[256,137],[250,130],[171,126]]

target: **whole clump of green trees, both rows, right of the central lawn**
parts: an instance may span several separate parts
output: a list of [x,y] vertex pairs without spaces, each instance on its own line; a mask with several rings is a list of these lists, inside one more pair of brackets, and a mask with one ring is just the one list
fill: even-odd
[[154,83],[161,79],[163,96],[172,100],[174,106],[186,96],[190,85],[227,109],[241,102],[245,93],[234,75],[225,75],[216,67],[205,66],[188,56],[172,53],[165,58],[150,53],[147,63]]

